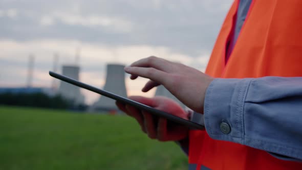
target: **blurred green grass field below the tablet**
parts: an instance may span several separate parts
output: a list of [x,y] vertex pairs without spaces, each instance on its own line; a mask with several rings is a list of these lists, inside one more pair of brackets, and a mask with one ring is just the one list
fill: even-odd
[[0,169],[187,169],[127,116],[0,107]]

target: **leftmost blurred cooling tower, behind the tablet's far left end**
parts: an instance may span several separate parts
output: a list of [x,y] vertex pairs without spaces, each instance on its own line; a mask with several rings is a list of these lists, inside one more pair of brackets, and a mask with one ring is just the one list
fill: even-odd
[[[73,79],[79,80],[79,71],[78,66],[63,66],[62,74]],[[60,81],[60,86],[58,93],[61,94],[64,98],[72,100],[75,105],[84,103],[84,96],[80,93],[80,88],[73,86],[70,83]]]

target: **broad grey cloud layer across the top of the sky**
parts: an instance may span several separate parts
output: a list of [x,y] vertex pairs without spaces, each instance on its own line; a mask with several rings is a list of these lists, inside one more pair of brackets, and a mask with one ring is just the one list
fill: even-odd
[[0,18],[0,37],[77,39],[110,46],[166,46],[198,57],[210,51],[231,1],[3,2],[15,19]]

